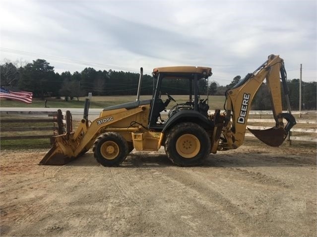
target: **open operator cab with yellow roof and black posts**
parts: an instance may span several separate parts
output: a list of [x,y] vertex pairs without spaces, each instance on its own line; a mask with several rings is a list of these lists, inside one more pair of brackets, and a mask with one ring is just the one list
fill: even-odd
[[[211,68],[194,66],[160,67],[154,68],[152,75],[157,82],[151,102],[149,129],[162,131],[171,118],[181,111],[183,111],[184,116],[188,114],[184,111],[191,111],[191,115],[199,113],[207,117],[209,106],[206,103],[207,99],[199,99],[198,83],[199,80],[207,79],[212,75]],[[178,95],[189,95],[188,100],[185,103],[178,104],[168,94],[169,88],[173,88],[173,91],[176,90]],[[164,95],[167,96],[165,101],[162,100]],[[161,118],[161,112],[166,111],[171,101],[177,104],[170,109],[168,118],[164,121]],[[182,116],[179,115],[179,117],[181,118]]]

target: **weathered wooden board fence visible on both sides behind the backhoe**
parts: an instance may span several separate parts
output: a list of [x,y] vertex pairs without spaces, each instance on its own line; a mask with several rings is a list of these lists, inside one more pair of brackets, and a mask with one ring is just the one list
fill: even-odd
[[[301,112],[301,114],[316,114],[316,111]],[[299,111],[293,112],[293,114],[299,115]],[[72,118],[69,111],[0,111],[1,123],[25,123],[24,126],[1,128],[1,132],[15,132],[15,131],[52,131],[52,135],[23,135],[23,136],[0,136],[1,140],[17,140],[17,139],[40,139],[51,138],[54,135],[64,134],[65,132],[72,132]],[[13,118],[4,117],[3,115],[16,115]],[[17,117],[23,116],[22,119]],[[48,115],[49,118],[38,118],[39,116]],[[33,116],[37,118],[25,118],[26,116]],[[260,116],[259,119],[252,118],[254,116]],[[261,118],[270,116],[270,119]],[[52,123],[52,126],[48,127],[30,127],[29,123]],[[317,142],[317,121],[316,119],[298,119],[296,118],[297,125],[291,129],[288,137],[288,141],[305,141],[305,142]],[[263,126],[268,124],[268,126]],[[250,118],[248,119],[248,127],[251,129],[268,129],[272,126],[269,124],[275,124],[272,111],[250,111]],[[295,136],[294,136],[294,135]],[[304,135],[304,136],[303,136]],[[308,135],[308,136],[307,136]],[[246,137],[254,137],[253,134],[246,132]],[[255,137],[254,137],[255,138]]]

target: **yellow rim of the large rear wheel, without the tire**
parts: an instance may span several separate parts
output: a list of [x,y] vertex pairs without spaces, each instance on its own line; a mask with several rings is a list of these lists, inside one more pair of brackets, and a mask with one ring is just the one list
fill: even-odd
[[176,150],[184,158],[193,158],[199,153],[200,142],[192,134],[184,134],[176,141]]

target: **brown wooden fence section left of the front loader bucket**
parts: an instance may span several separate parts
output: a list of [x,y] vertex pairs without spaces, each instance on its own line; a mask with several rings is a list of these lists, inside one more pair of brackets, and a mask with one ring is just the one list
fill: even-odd
[[[69,111],[65,113],[60,109],[58,111],[0,111],[0,115],[0,123],[9,123],[15,126],[1,128],[0,140],[46,139],[72,131],[72,119]],[[48,116],[48,118],[45,118],[46,116]],[[41,123],[44,124],[44,126],[32,127],[34,123]],[[29,135],[27,131],[52,131],[52,134]],[[23,132],[23,135],[2,136],[2,132]]]

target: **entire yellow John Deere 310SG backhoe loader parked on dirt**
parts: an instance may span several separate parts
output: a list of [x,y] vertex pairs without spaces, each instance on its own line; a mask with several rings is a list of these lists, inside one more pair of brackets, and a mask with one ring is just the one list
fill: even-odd
[[[279,146],[296,124],[291,114],[284,61],[278,55],[268,59],[253,73],[226,92],[224,112],[216,109],[208,114],[206,99],[200,99],[198,82],[212,75],[209,67],[175,66],[153,69],[157,81],[152,99],[139,100],[142,83],[140,72],[136,101],[103,109],[94,121],[88,120],[88,104],[84,118],[75,132],[54,136],[50,151],[40,161],[43,165],[63,165],[87,152],[91,147],[103,166],[118,166],[135,150],[157,151],[164,146],[167,157],[178,166],[201,164],[210,153],[236,149],[242,145],[249,111],[255,93],[266,79],[270,89],[275,126],[267,130],[249,129],[260,141]],[[188,101],[176,103],[164,121],[161,112],[176,100],[166,93],[164,82],[185,80]],[[282,111],[281,85],[286,96],[288,113]],[[164,89],[164,90],[163,90]],[[287,124],[284,126],[283,119]]]

